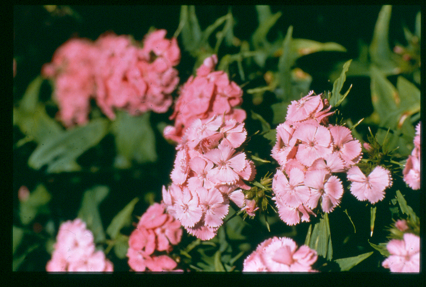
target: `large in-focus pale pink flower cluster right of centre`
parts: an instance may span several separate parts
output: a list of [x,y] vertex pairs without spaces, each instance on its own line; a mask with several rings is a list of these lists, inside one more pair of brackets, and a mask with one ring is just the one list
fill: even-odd
[[288,225],[309,221],[321,202],[332,211],[343,195],[340,179],[361,159],[361,144],[343,126],[326,126],[331,106],[311,91],[288,106],[286,121],[276,128],[272,157],[279,163],[272,181],[272,197],[279,217]]

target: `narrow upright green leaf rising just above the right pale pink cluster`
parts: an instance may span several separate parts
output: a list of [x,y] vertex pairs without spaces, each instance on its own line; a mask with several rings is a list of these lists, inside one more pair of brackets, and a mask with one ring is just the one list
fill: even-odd
[[282,54],[278,59],[278,83],[281,92],[276,96],[282,100],[288,100],[291,96],[291,67],[294,60],[291,58],[291,41],[293,34],[293,26],[288,27],[282,43]]

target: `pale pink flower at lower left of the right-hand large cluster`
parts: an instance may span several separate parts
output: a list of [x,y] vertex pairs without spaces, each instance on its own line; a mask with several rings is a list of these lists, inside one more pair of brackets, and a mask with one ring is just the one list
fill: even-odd
[[275,194],[279,194],[282,202],[285,205],[296,208],[300,204],[308,203],[311,192],[304,184],[305,174],[294,168],[290,170],[289,179],[282,173],[281,170],[277,170],[273,178],[272,190]]

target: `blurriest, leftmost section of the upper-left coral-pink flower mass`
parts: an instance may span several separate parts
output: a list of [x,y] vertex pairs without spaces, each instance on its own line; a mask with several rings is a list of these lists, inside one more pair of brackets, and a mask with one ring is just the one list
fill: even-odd
[[43,65],[42,75],[54,83],[57,117],[66,127],[88,121],[98,55],[91,41],[70,39],[54,52],[51,63]]

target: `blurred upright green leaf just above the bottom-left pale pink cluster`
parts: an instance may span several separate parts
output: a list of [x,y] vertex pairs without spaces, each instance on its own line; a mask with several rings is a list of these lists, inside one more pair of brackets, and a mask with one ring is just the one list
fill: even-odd
[[95,243],[105,240],[105,232],[102,227],[98,206],[108,192],[109,189],[106,186],[96,186],[84,192],[81,207],[77,214],[77,217],[83,220],[87,228],[92,231]]

